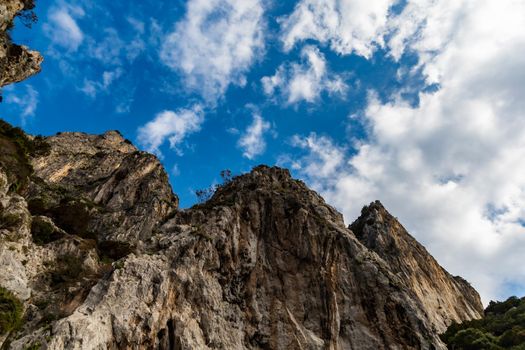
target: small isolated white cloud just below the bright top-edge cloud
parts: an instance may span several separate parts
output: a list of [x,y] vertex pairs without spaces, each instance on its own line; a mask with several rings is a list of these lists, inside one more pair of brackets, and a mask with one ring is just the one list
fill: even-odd
[[315,102],[323,91],[343,94],[347,85],[343,79],[327,69],[324,55],[314,46],[301,51],[302,63],[282,64],[273,76],[261,79],[264,93],[272,96],[280,92],[287,104],[300,101]]

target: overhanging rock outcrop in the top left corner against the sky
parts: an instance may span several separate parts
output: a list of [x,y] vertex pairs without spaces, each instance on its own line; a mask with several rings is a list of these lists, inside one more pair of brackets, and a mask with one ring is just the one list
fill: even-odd
[[27,79],[40,72],[42,56],[11,41],[9,30],[15,17],[30,15],[32,0],[3,0],[0,3],[0,88]]

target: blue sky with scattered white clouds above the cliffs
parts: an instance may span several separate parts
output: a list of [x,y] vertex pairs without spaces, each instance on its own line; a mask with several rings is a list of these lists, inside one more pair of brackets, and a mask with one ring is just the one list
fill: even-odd
[[4,89],[32,134],[117,129],[195,190],[279,165],[379,199],[483,301],[525,295],[524,0],[37,0]]

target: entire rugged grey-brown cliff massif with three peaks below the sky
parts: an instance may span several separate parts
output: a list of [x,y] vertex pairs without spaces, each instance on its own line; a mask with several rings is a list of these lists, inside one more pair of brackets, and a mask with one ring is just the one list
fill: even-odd
[[25,308],[6,348],[444,349],[482,313],[379,203],[348,228],[260,166],[179,210],[117,132],[0,135],[0,286]]

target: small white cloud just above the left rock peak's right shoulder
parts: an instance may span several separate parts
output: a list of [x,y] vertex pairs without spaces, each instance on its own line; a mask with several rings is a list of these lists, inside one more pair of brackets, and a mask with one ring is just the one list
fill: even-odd
[[162,111],[138,129],[138,141],[148,152],[161,157],[160,146],[167,140],[170,148],[181,155],[180,144],[188,135],[199,131],[203,122],[204,113],[198,105],[176,112]]

